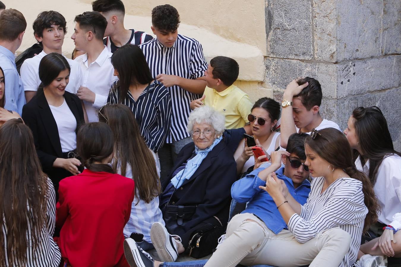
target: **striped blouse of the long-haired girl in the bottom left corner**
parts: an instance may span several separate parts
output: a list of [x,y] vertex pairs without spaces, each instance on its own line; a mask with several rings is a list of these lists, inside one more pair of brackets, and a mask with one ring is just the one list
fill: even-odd
[[[46,212],[46,225],[43,225],[40,236],[38,237],[39,243],[36,250],[32,250],[32,240],[30,240],[31,230],[30,221],[28,220],[28,231],[26,238],[28,240],[28,248],[26,249],[26,267],[57,267],[61,262],[60,249],[56,242],[53,240],[53,233],[56,223],[56,194],[52,181],[48,178],[47,184],[49,191],[47,193],[47,212]],[[29,207],[27,207],[29,209]],[[6,251],[6,259],[14,255],[7,255],[7,229],[3,226],[4,235],[4,248]],[[15,261],[14,261],[15,262]],[[10,266],[6,263],[6,266]],[[22,266],[22,264],[15,264],[13,266]]]

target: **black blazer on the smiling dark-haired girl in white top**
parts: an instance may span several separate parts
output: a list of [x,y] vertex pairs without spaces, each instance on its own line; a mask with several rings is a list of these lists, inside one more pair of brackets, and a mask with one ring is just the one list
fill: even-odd
[[[64,98],[77,120],[77,129],[75,130],[77,132],[79,126],[85,123],[81,100],[75,94],[67,91],[64,92]],[[32,130],[36,152],[43,171],[49,175],[55,169],[53,168],[54,161],[57,158],[63,158],[63,153],[56,120],[47,103],[45,94],[36,94],[24,105],[22,119]]]

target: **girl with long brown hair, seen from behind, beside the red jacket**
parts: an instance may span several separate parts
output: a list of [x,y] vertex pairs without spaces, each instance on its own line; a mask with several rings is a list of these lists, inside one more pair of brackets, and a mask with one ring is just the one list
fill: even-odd
[[[109,124],[114,135],[113,170],[135,181],[135,200],[131,207],[130,220],[124,227],[124,235],[143,234],[140,245],[153,248],[150,228],[155,222],[164,224],[159,209],[160,179],[155,155],[146,146],[135,116],[123,104],[107,104],[99,110],[99,121]],[[134,237],[134,236],[133,236]]]

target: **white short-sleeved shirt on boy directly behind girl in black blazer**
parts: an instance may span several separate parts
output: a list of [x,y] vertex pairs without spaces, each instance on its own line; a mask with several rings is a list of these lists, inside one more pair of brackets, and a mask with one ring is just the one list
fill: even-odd
[[[46,56],[46,53],[45,51],[42,51],[33,58],[28,58],[24,63],[22,63],[20,72],[25,91],[38,90],[38,87],[41,84],[41,79],[39,79],[39,64],[44,56]],[[76,94],[79,86],[81,86],[82,74],[77,62],[69,58],[66,59],[68,64],[70,64],[71,72],[65,90],[72,94]]]

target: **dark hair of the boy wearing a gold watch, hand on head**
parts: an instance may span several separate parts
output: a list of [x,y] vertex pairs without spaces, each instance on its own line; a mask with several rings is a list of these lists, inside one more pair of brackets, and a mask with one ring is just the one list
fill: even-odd
[[299,85],[304,84],[305,82],[308,82],[308,86],[302,89],[302,91],[294,96],[294,98],[300,97],[305,108],[310,110],[314,106],[320,106],[320,104],[322,104],[322,87],[318,80],[315,80],[314,78],[305,77],[298,80]]

